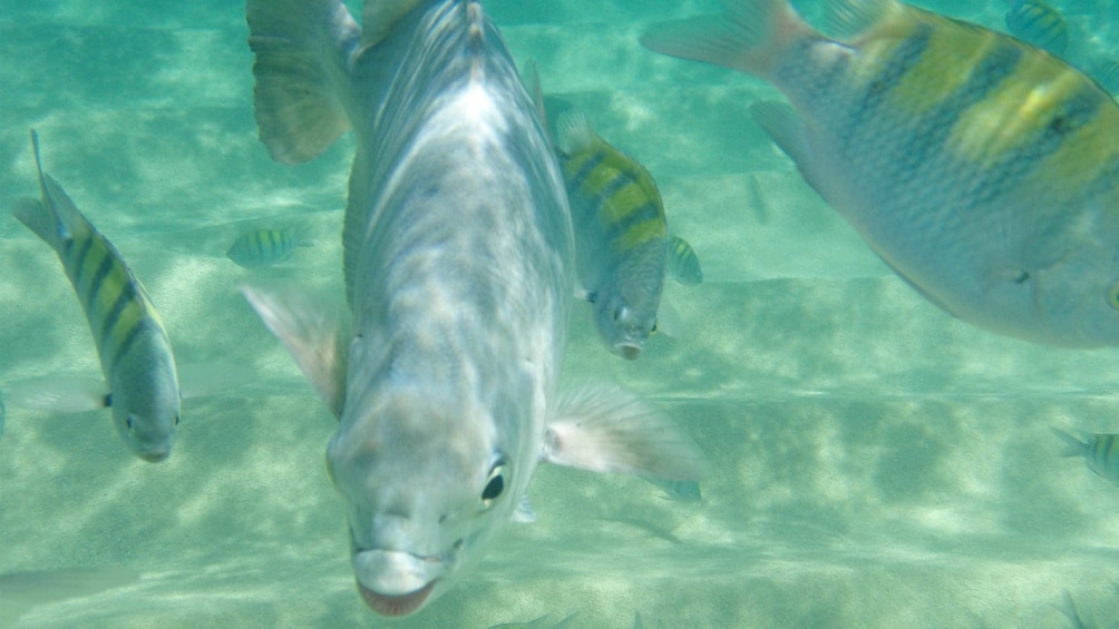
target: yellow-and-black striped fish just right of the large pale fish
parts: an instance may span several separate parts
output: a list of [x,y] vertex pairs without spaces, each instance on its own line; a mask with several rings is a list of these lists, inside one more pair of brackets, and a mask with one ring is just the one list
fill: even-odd
[[556,145],[571,201],[581,296],[593,305],[606,346],[636,360],[657,330],[666,270],[692,283],[698,259],[685,240],[670,240],[649,171],[602,140],[581,111],[558,117]]

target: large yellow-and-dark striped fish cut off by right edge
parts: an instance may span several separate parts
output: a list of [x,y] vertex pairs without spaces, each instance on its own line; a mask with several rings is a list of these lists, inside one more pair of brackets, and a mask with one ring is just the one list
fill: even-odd
[[752,113],[808,183],[931,302],[1037,343],[1119,344],[1119,105],[1064,61],[895,0],[787,0],[646,34],[762,77]]

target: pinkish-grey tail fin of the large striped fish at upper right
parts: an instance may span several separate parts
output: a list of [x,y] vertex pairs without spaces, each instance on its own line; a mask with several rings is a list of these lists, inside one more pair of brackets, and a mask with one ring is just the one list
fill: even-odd
[[666,22],[641,36],[650,50],[767,77],[790,42],[814,32],[789,0],[733,0],[722,16]]

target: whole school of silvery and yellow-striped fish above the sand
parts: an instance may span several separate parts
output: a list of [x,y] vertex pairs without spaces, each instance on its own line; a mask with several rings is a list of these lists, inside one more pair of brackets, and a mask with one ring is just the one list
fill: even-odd
[[[752,103],[755,122],[906,284],[997,334],[1119,345],[1119,63],[1064,60],[1056,9],[1007,0],[1002,34],[830,0],[825,34],[789,0],[724,8],[640,41],[775,87],[788,102]],[[653,174],[579,107],[548,121],[535,69],[517,70],[477,0],[368,0],[361,26],[341,0],[247,0],[246,19],[269,154],[297,164],[356,141],[344,288],[242,293],[338,420],[327,470],[360,600],[404,617],[468,578],[509,523],[535,518],[542,463],[702,504],[706,459],[685,430],[623,388],[560,384],[576,298],[606,350],[637,360],[669,327],[666,279],[703,282]],[[76,408],[110,408],[132,452],[164,460],[182,398],[168,332],[30,136],[39,198],[12,213],[62,263],[104,380]],[[261,228],[226,256],[248,273],[308,246]],[[29,399],[6,388],[0,436],[4,401]],[[1119,485],[1119,435],[1053,430]]]

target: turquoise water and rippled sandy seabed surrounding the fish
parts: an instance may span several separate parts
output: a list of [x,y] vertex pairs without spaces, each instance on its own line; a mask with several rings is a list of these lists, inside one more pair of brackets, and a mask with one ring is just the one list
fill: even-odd
[[[668,289],[684,333],[636,363],[611,356],[579,308],[564,379],[649,398],[712,475],[704,501],[683,504],[639,479],[542,467],[538,521],[392,625],[579,611],[576,629],[629,629],[634,612],[650,628],[1061,628],[1065,590],[1085,620],[1119,619],[1119,487],[1061,458],[1050,430],[1119,431],[1119,353],[981,332],[892,275],[749,117],[771,87],[638,46],[650,22],[716,2],[534,4],[485,3],[545,90],[649,168],[705,270]],[[1053,4],[1073,29],[1070,59],[1119,55],[1119,3]],[[927,6],[996,28],[1005,10]],[[7,212],[36,194],[29,127],[144,282],[179,362],[256,374],[186,400],[159,465],[128,452],[106,411],[9,407],[0,623],[389,625],[355,592],[322,465],[333,420],[236,288],[340,284],[354,142],[272,162],[246,36],[236,2],[0,4],[0,388],[98,373],[56,257]],[[313,246],[263,270],[225,258],[276,226]],[[25,571],[40,574],[12,575]]]

